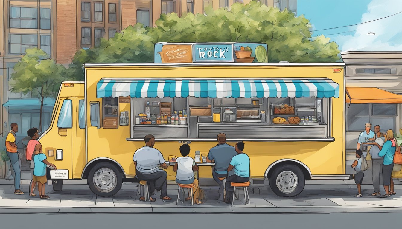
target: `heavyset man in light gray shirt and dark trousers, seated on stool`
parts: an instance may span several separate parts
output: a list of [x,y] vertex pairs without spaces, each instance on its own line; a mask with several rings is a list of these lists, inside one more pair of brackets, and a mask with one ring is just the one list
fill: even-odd
[[[144,140],[145,146],[135,151],[133,156],[135,174],[139,180],[148,181],[151,202],[155,202],[156,199],[155,189],[161,191],[160,198],[162,201],[170,201],[171,198],[167,195],[166,171],[158,168],[158,165],[164,169],[168,166],[161,152],[154,148],[154,136],[149,134],[145,136]],[[145,201],[145,197],[140,197],[139,200]]]

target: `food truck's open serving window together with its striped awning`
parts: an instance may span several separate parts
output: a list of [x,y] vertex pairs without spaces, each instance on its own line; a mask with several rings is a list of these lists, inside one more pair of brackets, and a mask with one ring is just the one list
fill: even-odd
[[[215,139],[224,132],[242,139],[325,139],[330,98],[339,85],[330,79],[101,80],[97,96],[130,96],[131,138]],[[105,117],[115,113],[105,110]]]

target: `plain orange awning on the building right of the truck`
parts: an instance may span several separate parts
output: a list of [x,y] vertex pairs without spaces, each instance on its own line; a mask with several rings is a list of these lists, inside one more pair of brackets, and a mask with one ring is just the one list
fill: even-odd
[[346,103],[402,103],[402,95],[377,87],[347,87]]

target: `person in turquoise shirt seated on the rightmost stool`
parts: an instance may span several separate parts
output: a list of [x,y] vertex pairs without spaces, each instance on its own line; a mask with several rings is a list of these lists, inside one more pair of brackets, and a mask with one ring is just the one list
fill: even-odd
[[[234,168],[234,175],[229,176],[226,179],[226,196],[229,198],[226,203],[232,203],[233,199],[233,186],[230,185],[231,182],[234,183],[244,183],[250,180],[250,158],[247,154],[243,153],[244,143],[238,142],[234,146],[237,155],[230,161],[228,172]],[[244,197],[246,198],[246,197]]]

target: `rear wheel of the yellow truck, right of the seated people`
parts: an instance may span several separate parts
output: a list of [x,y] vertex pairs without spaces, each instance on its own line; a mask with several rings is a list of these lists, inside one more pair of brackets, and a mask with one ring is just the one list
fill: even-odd
[[279,197],[295,197],[304,189],[306,180],[298,166],[287,164],[275,168],[269,178],[271,190]]

